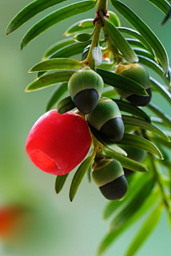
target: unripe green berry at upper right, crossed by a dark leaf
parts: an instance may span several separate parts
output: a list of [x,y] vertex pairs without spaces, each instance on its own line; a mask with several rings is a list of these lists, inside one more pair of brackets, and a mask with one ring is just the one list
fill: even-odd
[[115,88],[115,91],[117,91],[121,97],[127,99],[135,106],[147,106],[147,104],[150,103],[152,96],[150,78],[143,66],[138,63],[120,63],[118,66],[116,66],[115,73],[140,83],[140,85],[143,86],[145,91],[148,93],[148,96],[139,96],[128,91],[124,91],[123,89]]

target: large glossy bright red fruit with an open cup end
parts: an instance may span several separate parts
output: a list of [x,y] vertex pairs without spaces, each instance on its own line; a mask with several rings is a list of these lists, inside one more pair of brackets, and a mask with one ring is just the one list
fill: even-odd
[[69,111],[48,111],[34,123],[26,140],[26,153],[46,173],[69,173],[86,157],[91,136],[83,116]]

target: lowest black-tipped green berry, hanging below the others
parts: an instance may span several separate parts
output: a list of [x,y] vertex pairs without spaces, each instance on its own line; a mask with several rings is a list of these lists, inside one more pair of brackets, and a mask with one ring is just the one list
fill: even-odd
[[119,200],[128,190],[123,167],[113,158],[96,159],[93,163],[92,178],[100,192],[108,200]]

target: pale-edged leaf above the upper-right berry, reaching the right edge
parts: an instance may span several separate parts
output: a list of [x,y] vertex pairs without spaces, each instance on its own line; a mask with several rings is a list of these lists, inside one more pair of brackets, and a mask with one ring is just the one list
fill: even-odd
[[141,56],[138,55],[138,58],[139,58],[140,63],[148,66],[153,71],[155,71],[158,75],[161,76],[161,78],[163,79],[163,81],[165,81],[167,86],[170,86],[170,76],[163,77],[163,70],[162,70],[162,67],[159,64],[157,64],[155,61],[152,61],[152,59],[147,58],[147,57],[142,56],[142,55]]

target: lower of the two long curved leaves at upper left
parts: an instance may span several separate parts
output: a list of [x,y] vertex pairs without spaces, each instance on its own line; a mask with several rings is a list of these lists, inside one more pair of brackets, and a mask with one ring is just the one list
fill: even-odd
[[49,29],[51,26],[63,21],[64,19],[68,19],[71,16],[75,16],[76,14],[81,14],[84,11],[92,9],[95,4],[97,4],[97,1],[80,1],[75,4],[62,7],[61,9],[48,14],[45,18],[41,19],[41,21],[38,21],[34,26],[31,27],[30,30],[27,31],[21,41],[21,49],[28,45],[28,43],[30,43],[33,39],[35,39],[36,36],[43,33],[43,31],[46,31],[46,29]]

